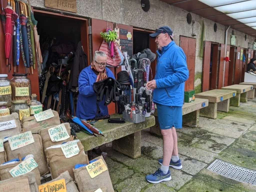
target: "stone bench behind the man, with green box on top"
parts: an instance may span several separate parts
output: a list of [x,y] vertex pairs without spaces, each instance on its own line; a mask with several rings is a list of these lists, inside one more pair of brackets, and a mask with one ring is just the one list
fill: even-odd
[[[182,123],[189,127],[198,127],[199,110],[208,106],[208,99],[195,98],[191,103],[184,103],[182,107]],[[161,130],[158,123],[157,107],[155,108],[155,125],[150,127],[150,133],[161,136]]]

